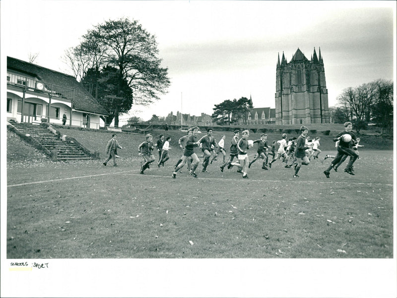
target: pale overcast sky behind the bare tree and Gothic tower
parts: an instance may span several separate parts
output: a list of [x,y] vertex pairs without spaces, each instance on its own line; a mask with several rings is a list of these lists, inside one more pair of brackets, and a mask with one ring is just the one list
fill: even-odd
[[[71,73],[65,50],[93,25],[129,17],[156,36],[171,86],[150,119],[183,111],[212,114],[214,104],[249,98],[274,108],[277,55],[299,48],[324,58],[329,105],[347,87],[393,79],[395,1],[1,1],[1,55]],[[6,28],[5,28],[6,27]],[[122,116],[126,119],[128,116]]]

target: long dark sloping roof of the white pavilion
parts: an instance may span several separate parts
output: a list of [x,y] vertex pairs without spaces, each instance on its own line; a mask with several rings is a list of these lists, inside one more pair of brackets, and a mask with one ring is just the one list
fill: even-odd
[[45,83],[74,89],[73,108],[76,110],[101,115],[109,114],[71,75],[11,57],[7,57],[7,68],[36,76]]

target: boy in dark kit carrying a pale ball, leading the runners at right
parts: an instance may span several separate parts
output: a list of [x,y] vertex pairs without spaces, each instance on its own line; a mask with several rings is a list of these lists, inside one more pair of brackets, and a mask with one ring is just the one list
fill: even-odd
[[339,132],[334,138],[333,141],[337,142],[339,141],[338,147],[337,147],[337,154],[336,157],[331,161],[331,165],[325,170],[323,173],[327,178],[330,178],[330,170],[337,165],[342,157],[344,155],[350,156],[349,163],[347,164],[346,168],[344,171],[347,174],[354,175],[353,171],[351,170],[353,168],[353,164],[356,161],[358,154],[350,148],[350,140],[347,140],[343,137],[344,134],[349,134],[351,136],[351,141],[353,145],[357,143],[356,141],[356,136],[352,132],[353,129],[353,124],[351,122],[345,122],[344,124],[345,130]]

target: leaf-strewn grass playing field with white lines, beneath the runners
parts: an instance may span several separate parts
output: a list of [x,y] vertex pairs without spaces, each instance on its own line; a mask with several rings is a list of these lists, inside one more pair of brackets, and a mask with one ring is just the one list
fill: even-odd
[[[182,154],[173,133],[171,159],[146,175],[142,135],[118,134],[115,168],[52,163],[8,133],[7,258],[393,258],[393,151],[363,142],[355,176],[341,167],[327,179],[328,159],[298,179],[280,161],[269,171],[258,161],[250,179],[221,173],[219,161],[210,173],[199,166],[198,179],[186,168],[172,179]],[[82,143],[103,152],[109,135],[85,132]],[[333,154],[322,140],[322,155]]]

